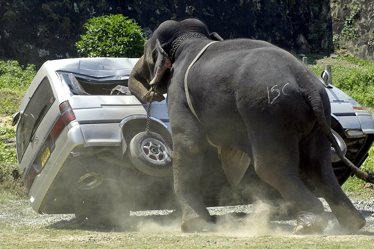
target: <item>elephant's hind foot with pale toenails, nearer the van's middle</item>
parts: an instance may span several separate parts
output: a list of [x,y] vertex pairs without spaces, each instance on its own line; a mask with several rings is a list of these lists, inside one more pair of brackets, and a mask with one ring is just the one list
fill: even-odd
[[297,225],[293,234],[315,234],[321,233],[327,227],[327,219],[317,214],[311,214],[297,219]]

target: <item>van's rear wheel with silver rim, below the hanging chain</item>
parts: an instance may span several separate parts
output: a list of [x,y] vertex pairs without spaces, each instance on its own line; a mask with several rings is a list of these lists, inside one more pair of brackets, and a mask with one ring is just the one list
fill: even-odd
[[130,141],[129,158],[147,175],[169,177],[173,174],[170,142],[160,134],[141,132]]

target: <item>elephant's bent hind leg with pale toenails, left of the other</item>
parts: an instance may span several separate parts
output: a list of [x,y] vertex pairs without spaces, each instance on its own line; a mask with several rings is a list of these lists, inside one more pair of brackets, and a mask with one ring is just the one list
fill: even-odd
[[293,233],[322,232],[327,227],[324,207],[300,179],[297,135],[283,132],[256,135],[260,140],[251,140],[255,171],[281,193],[296,214]]

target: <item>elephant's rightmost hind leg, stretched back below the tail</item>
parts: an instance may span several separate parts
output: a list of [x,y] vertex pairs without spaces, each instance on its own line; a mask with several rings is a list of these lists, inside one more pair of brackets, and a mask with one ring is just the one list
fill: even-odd
[[346,233],[357,232],[364,227],[366,221],[341,190],[334,175],[329,141],[319,131],[304,144],[305,147],[301,149],[302,169],[329,204],[341,228]]

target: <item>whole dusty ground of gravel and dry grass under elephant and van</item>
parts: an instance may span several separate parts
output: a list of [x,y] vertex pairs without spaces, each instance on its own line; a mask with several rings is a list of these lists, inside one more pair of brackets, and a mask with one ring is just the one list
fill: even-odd
[[292,235],[288,215],[271,218],[256,205],[209,208],[213,232],[182,233],[171,210],[131,212],[128,226],[106,227],[73,214],[40,215],[28,200],[0,201],[3,248],[374,248],[374,193],[348,193],[367,220],[357,234],[344,234],[322,200],[329,219],[321,234]]

